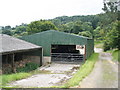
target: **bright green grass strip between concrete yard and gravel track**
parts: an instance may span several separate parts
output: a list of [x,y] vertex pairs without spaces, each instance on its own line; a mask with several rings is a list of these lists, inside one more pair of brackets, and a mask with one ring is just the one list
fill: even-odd
[[94,53],[86,62],[83,64],[77,73],[64,85],[63,88],[74,87],[79,85],[79,82],[83,80],[94,68],[95,62],[98,60],[98,53]]

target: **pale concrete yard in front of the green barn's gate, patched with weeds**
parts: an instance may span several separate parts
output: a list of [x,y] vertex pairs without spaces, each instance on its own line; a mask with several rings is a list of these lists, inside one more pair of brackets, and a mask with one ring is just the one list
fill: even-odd
[[52,63],[48,66],[39,68],[39,70],[51,71],[50,74],[33,75],[29,78],[12,82],[9,85],[21,88],[59,86],[63,84],[63,82],[65,83],[66,80],[70,79],[77,71],[74,68],[78,68],[79,66],[80,63]]

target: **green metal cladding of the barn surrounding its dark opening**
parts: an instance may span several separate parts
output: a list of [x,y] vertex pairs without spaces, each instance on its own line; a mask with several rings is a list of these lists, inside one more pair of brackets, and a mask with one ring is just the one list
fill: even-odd
[[88,37],[48,30],[33,35],[23,36],[21,39],[43,47],[43,55],[51,55],[51,45],[85,45],[86,59],[94,52],[94,40]]

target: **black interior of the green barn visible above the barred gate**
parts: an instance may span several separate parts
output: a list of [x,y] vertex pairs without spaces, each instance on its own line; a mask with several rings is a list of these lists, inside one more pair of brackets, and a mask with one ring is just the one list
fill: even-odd
[[76,45],[51,45],[51,53],[79,53]]

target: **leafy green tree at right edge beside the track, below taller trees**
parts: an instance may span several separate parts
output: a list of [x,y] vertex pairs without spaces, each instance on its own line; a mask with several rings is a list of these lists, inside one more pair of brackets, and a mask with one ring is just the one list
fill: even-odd
[[[106,35],[104,43],[104,50],[118,48],[120,50],[120,21],[113,22],[111,24],[111,30]],[[106,46],[107,45],[107,46]]]

